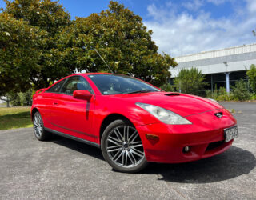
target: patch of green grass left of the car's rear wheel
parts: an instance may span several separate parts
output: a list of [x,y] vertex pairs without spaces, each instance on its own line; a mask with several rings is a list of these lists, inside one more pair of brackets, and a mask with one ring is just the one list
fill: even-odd
[[0,130],[32,127],[30,107],[0,107]]

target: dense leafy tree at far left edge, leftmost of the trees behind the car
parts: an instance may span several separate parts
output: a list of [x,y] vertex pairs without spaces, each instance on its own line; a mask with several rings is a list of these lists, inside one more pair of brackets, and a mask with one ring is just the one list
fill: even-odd
[[30,70],[38,67],[37,41],[42,34],[24,20],[0,14],[0,97],[30,87]]

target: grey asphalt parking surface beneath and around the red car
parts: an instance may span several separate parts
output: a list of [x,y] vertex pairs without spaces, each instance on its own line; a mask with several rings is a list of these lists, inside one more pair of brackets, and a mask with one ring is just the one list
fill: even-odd
[[115,172],[101,151],[66,138],[38,142],[32,128],[0,131],[0,198],[256,199],[256,103],[235,110],[239,138],[197,162]]

